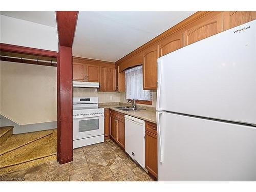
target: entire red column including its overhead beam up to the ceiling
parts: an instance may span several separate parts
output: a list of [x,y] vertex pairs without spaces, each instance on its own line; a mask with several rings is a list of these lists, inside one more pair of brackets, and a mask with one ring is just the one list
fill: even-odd
[[56,11],[59,37],[57,63],[58,161],[73,160],[72,45],[78,11]]

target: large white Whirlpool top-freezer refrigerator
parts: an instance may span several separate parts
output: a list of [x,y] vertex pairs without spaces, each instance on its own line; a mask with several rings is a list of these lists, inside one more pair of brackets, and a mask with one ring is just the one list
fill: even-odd
[[158,181],[256,181],[256,20],[158,59]]

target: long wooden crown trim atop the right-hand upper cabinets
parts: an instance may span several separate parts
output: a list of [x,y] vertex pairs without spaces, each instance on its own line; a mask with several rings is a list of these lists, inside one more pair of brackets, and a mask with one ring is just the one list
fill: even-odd
[[[120,63],[123,62],[124,60],[129,59],[133,55],[139,53],[140,51],[146,49],[147,47],[152,46],[153,44],[155,44],[156,42],[158,42],[161,39],[165,38],[166,36],[171,35],[171,34],[175,33],[176,31],[181,30],[182,28],[186,27],[190,23],[195,22],[196,20],[200,19],[201,17],[203,17],[203,16],[205,16],[205,15],[211,13],[211,12],[212,11],[198,11],[198,12],[194,13],[193,15],[191,15],[191,16],[187,17],[186,19],[182,20],[182,22],[178,23],[174,27],[166,30],[165,32],[163,32],[160,35],[158,35],[157,37],[155,37],[152,40],[146,42],[146,44],[140,46],[136,50],[132,51],[131,53],[129,53],[129,54],[125,55],[124,57],[122,57],[121,59],[117,60],[115,62],[116,65],[120,65]],[[120,68],[120,71],[122,71],[122,70],[123,69]]]

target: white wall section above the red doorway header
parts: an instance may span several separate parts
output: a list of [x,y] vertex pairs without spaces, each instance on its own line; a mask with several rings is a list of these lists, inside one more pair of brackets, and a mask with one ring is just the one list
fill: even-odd
[[58,51],[57,28],[5,15],[0,17],[2,43]]

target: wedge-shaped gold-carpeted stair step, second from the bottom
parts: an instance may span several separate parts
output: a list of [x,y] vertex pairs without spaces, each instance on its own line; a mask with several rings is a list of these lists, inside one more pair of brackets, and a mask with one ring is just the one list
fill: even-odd
[[32,143],[40,138],[51,135],[53,132],[54,130],[46,130],[12,135],[4,143],[1,144],[0,156],[5,153],[16,150],[19,147]]

